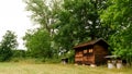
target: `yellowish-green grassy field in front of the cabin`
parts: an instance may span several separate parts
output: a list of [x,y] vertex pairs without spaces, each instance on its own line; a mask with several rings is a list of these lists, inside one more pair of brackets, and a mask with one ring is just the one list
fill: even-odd
[[132,74],[132,69],[109,70],[74,64],[0,63],[0,74]]

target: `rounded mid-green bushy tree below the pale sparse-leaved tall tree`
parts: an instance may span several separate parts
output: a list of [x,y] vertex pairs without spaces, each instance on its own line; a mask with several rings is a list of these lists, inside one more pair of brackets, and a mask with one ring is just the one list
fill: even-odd
[[29,30],[23,39],[31,57],[52,58],[51,37],[47,30]]

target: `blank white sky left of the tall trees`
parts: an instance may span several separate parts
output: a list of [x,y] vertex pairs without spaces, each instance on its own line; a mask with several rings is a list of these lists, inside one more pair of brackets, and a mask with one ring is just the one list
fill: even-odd
[[25,3],[22,0],[0,1],[0,41],[7,30],[12,30],[18,35],[19,49],[25,49],[22,37],[26,29],[34,28],[29,13],[25,11]]

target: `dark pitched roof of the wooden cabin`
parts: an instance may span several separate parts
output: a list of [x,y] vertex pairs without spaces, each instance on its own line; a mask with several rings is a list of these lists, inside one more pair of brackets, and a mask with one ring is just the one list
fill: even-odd
[[75,46],[74,49],[86,47],[86,46],[92,46],[92,45],[95,45],[95,44],[97,44],[99,41],[103,41],[107,46],[109,46],[107,44],[107,41],[105,41],[102,38],[99,38],[99,39],[96,39],[96,40],[90,40],[90,41],[87,41],[87,42],[84,42],[84,44],[79,44],[79,45]]

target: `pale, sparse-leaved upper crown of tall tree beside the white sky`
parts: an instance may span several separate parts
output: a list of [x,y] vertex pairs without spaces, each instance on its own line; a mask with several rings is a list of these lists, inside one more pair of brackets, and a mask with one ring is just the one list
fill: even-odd
[[31,12],[31,20],[46,29],[52,36],[53,24],[56,21],[56,12],[59,10],[61,0],[23,0],[26,3],[26,11]]

